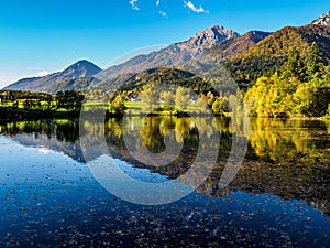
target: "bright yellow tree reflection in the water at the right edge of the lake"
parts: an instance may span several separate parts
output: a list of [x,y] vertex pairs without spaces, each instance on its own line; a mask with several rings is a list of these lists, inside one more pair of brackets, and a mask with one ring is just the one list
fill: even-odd
[[[319,159],[326,152],[327,139],[320,139],[319,133],[326,134],[324,122],[305,120],[274,120],[267,118],[252,119],[249,140],[256,155],[274,162],[296,161],[301,157]],[[329,149],[329,148],[328,148]],[[323,151],[322,151],[323,150]]]

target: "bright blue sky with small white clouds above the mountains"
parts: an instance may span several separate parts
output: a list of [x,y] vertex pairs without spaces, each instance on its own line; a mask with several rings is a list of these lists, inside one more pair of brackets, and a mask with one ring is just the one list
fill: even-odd
[[328,0],[1,0],[0,87],[82,58],[106,68],[127,52],[213,24],[241,34],[276,31],[328,10]]

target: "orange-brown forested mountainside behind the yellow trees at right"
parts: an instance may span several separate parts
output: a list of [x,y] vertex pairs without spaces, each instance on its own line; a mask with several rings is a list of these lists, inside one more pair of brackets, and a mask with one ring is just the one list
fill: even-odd
[[230,60],[226,63],[226,67],[241,88],[248,88],[257,77],[278,69],[287,60],[293,46],[296,46],[304,57],[314,42],[322,52],[323,63],[328,65],[330,62],[330,28],[309,24],[280,29],[249,51]]

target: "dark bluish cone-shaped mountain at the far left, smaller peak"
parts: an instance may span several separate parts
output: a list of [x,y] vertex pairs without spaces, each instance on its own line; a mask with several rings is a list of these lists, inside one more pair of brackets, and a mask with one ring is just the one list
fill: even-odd
[[50,91],[56,85],[70,79],[80,77],[91,77],[102,69],[88,61],[79,61],[63,72],[46,75],[44,77],[32,77],[21,79],[4,89],[30,90],[30,91]]

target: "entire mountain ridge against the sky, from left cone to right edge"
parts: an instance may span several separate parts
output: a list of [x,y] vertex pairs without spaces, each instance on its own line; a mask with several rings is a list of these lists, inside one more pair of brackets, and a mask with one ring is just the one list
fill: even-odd
[[[178,67],[204,73],[210,69],[207,57],[217,64],[224,63],[239,85],[250,87],[253,82],[267,72],[276,71],[287,60],[292,46],[298,46],[301,56],[312,42],[323,54],[323,63],[330,63],[330,11],[304,26],[285,26],[268,33],[250,31],[240,35],[222,25],[212,25],[197,32],[190,39],[168,45],[150,54],[140,54],[127,62],[101,69],[86,60],[68,66],[63,72],[44,77],[23,78],[4,89],[54,91],[84,89],[100,85],[123,83],[134,74],[150,68]],[[215,64],[213,64],[215,65]],[[127,75],[127,76],[125,76]],[[81,79],[82,78],[82,79]],[[84,79],[85,78],[85,79]]]

